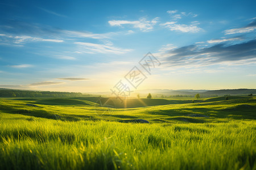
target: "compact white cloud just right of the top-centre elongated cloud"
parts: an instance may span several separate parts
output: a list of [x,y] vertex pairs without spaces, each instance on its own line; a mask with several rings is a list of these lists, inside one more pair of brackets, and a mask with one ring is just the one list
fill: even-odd
[[164,24],[160,24],[166,28],[169,28],[171,31],[181,31],[181,32],[199,32],[203,29],[200,27],[197,27],[196,25],[199,23],[192,23],[190,25],[185,24],[174,24],[174,22],[166,22]]

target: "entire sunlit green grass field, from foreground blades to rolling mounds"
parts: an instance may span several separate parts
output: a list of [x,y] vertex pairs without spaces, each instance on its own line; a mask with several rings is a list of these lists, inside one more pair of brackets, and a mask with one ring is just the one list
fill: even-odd
[[256,97],[102,101],[0,99],[0,169],[256,169]]

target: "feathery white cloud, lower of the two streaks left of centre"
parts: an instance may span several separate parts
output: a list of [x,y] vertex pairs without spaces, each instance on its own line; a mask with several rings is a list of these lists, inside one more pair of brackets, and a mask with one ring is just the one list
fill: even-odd
[[75,42],[82,49],[79,52],[83,53],[113,53],[113,54],[123,54],[131,52],[131,49],[121,49],[113,46],[112,43],[107,44],[94,44],[90,42]]

